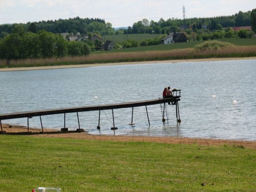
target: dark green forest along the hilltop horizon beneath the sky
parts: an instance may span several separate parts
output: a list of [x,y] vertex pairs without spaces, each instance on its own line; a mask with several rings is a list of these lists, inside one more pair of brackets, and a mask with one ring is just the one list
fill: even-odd
[[99,18],[69,18],[59,20],[49,20],[40,22],[28,22],[26,24],[1,24],[0,38],[7,36],[12,32],[16,25],[23,25],[26,31],[37,33],[45,30],[54,34],[73,33],[86,35],[89,32],[97,33],[98,35],[118,35],[118,34],[168,34],[171,32],[181,31],[187,28],[193,31],[202,28],[209,30],[218,30],[222,27],[233,26],[250,26],[251,11],[238,12],[230,16],[206,17],[206,18],[187,18],[177,19],[170,18],[167,20],[160,19],[159,21],[148,21],[146,18],[135,22],[128,29],[114,30],[112,24],[106,23],[104,19]]

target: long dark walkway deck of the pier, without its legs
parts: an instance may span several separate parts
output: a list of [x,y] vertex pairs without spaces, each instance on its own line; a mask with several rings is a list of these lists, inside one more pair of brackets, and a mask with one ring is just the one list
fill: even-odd
[[58,109],[48,109],[48,110],[38,110],[38,111],[7,113],[7,114],[0,114],[0,120],[8,120],[8,119],[16,119],[16,118],[24,118],[24,117],[35,117],[35,116],[43,116],[43,115],[55,115],[55,114],[63,114],[63,113],[74,113],[74,112],[83,112],[83,111],[97,111],[97,110],[157,105],[160,103],[180,101],[180,97],[181,96],[174,96],[174,97],[165,98],[165,99],[144,100],[144,101],[135,101],[135,102],[127,102],[127,103],[98,105],[98,106],[84,106],[84,107],[76,107],[76,108],[58,108]]

